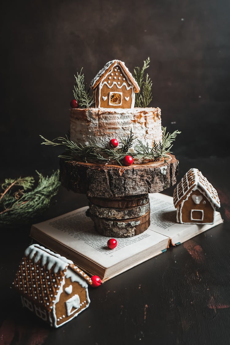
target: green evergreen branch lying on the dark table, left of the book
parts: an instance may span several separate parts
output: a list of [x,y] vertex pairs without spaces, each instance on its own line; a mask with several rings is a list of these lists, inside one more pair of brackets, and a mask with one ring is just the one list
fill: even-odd
[[[19,224],[29,223],[33,218],[42,214],[49,205],[51,198],[57,194],[60,182],[59,182],[59,170],[54,172],[50,177],[43,176],[36,171],[39,176],[37,187],[34,187],[33,177],[19,178],[19,179],[6,179],[1,185],[1,196],[0,196],[0,227],[13,226]],[[18,181],[18,186],[22,189],[14,189]],[[8,189],[6,186],[15,183]],[[23,185],[21,184],[23,183]],[[29,187],[28,187],[29,185]],[[3,186],[3,188],[2,188]],[[24,189],[23,186],[26,186]],[[8,189],[8,190],[7,190]],[[30,189],[30,191],[27,191]]]

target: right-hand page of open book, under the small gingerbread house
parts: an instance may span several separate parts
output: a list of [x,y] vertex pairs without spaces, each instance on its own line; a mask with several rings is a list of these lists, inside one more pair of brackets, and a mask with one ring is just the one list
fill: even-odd
[[173,205],[173,198],[161,193],[149,194],[150,227],[162,235],[171,238],[172,244],[182,243],[220,223],[219,212],[216,212],[214,224],[180,224],[177,223],[177,210]]

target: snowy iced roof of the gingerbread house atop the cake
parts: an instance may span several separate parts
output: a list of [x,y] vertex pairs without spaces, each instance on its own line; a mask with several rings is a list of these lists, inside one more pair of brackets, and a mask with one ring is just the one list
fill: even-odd
[[104,67],[98,72],[96,77],[93,78],[93,80],[91,81],[90,88],[92,90],[95,89],[98,86],[98,84],[100,83],[100,81],[103,79],[105,73],[108,70],[113,69],[113,67],[116,66],[116,65],[119,65],[123,69],[123,72],[126,74],[126,76],[129,79],[130,83],[134,86],[134,91],[135,92],[139,92],[140,88],[138,86],[138,83],[133,78],[132,73],[128,70],[128,68],[126,67],[124,62],[122,62],[120,60],[112,60],[112,61],[107,62],[106,65],[104,65]]

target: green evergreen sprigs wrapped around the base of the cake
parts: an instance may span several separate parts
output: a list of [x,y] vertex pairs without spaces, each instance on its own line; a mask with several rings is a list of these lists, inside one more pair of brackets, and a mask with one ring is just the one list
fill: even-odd
[[[144,145],[141,140],[134,138],[132,131],[130,131],[130,135],[127,138],[120,139],[122,143],[122,147],[119,149],[107,149],[101,148],[97,145],[86,145],[83,146],[82,144],[77,144],[66,136],[58,137],[53,141],[45,139],[40,135],[40,137],[44,140],[41,144],[44,145],[52,145],[52,146],[61,146],[67,152],[66,155],[59,155],[58,157],[71,160],[77,159],[83,162],[99,162],[108,164],[116,162],[119,165],[121,164],[121,160],[129,154],[134,159],[143,161],[143,160],[160,160],[161,158],[167,157],[170,149],[172,148],[172,142],[176,139],[176,136],[181,132],[176,130],[172,134],[166,132],[166,127],[162,127],[162,141],[158,144],[154,141],[153,147],[149,147],[147,143]],[[137,144],[134,146],[136,152],[132,153],[129,152],[129,149],[132,147],[134,141],[137,140]],[[105,145],[106,146],[106,145]]]

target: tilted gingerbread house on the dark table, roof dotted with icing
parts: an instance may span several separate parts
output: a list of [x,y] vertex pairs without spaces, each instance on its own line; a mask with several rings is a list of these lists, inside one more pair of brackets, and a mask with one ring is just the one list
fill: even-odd
[[90,304],[90,277],[71,260],[38,244],[26,249],[13,284],[22,305],[53,327],[70,321]]

